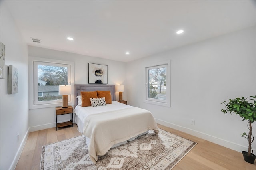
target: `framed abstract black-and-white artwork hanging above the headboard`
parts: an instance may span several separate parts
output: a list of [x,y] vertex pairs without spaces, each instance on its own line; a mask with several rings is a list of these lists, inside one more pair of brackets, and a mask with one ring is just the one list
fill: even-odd
[[89,84],[108,84],[108,66],[89,63],[88,83]]

